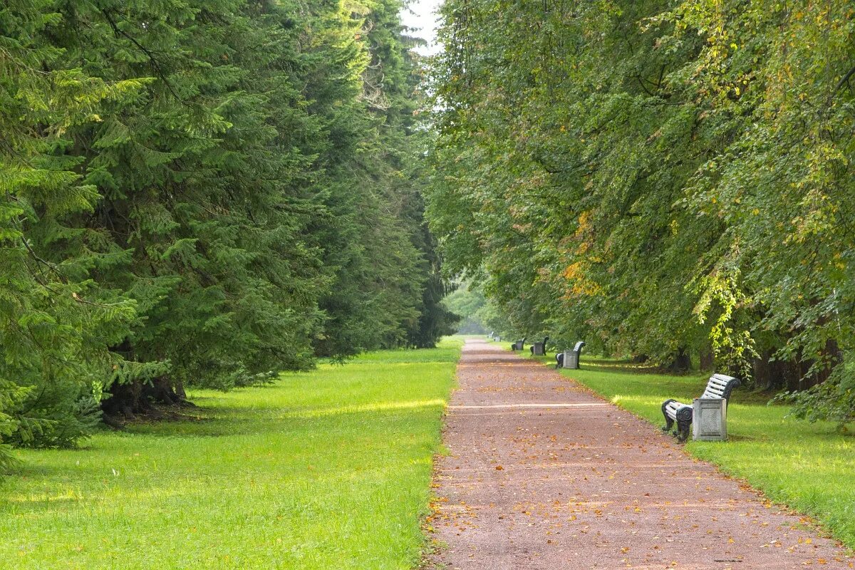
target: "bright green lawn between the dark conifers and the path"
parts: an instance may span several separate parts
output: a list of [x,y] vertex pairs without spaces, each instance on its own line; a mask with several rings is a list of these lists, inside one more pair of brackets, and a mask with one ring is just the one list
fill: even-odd
[[197,419],[21,452],[0,567],[415,567],[461,344],[192,391]]

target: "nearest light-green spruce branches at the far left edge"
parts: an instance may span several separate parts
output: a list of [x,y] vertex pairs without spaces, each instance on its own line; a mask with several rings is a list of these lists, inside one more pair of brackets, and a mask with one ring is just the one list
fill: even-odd
[[[53,3],[0,9],[0,444],[74,444],[97,421],[95,391],[121,357],[133,300],[80,272],[80,259],[47,246],[85,228],[99,198],[68,156],[68,132],[97,123],[144,80],[110,82],[68,66],[44,42]],[[8,455],[0,445],[0,464]]]

